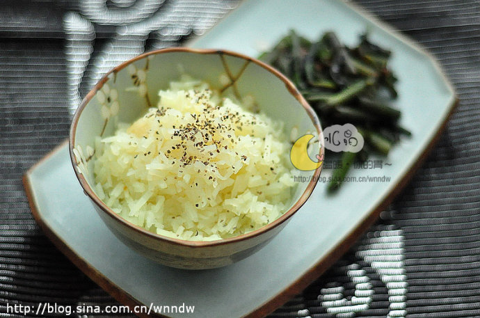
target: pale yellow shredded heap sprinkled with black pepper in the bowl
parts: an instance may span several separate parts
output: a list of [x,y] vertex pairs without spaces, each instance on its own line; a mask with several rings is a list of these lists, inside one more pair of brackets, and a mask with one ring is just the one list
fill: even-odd
[[280,122],[192,79],[159,92],[158,108],[97,138],[95,192],[131,223],[207,241],[271,223],[294,180]]

